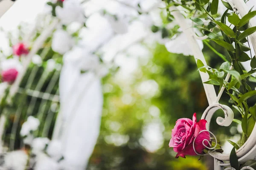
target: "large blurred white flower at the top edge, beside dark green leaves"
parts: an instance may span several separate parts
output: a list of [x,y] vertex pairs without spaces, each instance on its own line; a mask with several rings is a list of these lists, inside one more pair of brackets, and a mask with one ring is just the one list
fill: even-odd
[[63,8],[56,7],[56,16],[61,19],[61,23],[70,24],[72,22],[84,23],[84,9],[79,0],[64,0]]

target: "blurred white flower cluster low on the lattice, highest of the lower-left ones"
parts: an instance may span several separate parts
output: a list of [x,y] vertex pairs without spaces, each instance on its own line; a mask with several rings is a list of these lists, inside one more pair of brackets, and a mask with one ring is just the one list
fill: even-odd
[[38,118],[34,118],[33,116],[29,116],[27,121],[22,124],[20,135],[26,136],[29,135],[30,131],[35,131],[38,129],[40,121]]

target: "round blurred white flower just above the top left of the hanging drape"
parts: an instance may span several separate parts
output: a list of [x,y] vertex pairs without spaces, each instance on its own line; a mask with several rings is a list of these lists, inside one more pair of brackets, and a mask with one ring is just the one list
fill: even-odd
[[69,51],[74,42],[72,37],[64,30],[56,30],[52,36],[52,50],[60,54]]

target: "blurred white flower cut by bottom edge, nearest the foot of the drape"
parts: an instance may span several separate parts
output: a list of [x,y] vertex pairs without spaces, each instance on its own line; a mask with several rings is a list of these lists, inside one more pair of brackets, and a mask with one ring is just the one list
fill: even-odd
[[36,156],[35,170],[59,170],[58,162],[44,153]]

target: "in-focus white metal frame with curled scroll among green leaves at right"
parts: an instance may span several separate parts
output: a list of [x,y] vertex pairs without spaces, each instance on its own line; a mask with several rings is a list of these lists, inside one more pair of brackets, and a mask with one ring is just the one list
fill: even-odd
[[[227,0],[227,2],[230,3],[233,9],[239,12],[241,17],[243,17],[245,14],[249,12],[249,9],[244,3],[244,0]],[[204,59],[204,55],[201,52],[198,46],[198,43],[196,42],[197,37],[195,37],[195,33],[193,32],[192,26],[189,26],[184,16],[179,12],[179,10],[175,6],[171,6],[170,11],[172,12],[172,15],[175,17],[175,20],[180,25],[183,32],[186,34],[189,46],[192,49],[195,60],[200,59],[204,63],[204,65],[207,65]],[[252,27],[252,26],[256,26],[256,23],[253,19],[251,19],[249,22],[249,27]],[[256,33],[253,33],[252,35],[250,35],[250,40],[253,44],[253,49],[256,52]],[[230,69],[232,69],[232,67],[230,67]],[[203,82],[207,81],[209,78],[207,73],[200,72],[200,75]],[[226,81],[228,81],[229,78],[230,78],[230,75],[227,75]],[[213,85],[204,84],[204,90],[206,92],[207,100],[209,102],[209,107],[207,107],[207,109],[204,111],[204,114],[202,115],[202,119],[206,119],[208,122],[207,130],[209,130],[209,124],[210,124],[212,115],[218,109],[222,109],[224,111],[225,117],[224,118],[218,117],[216,120],[217,123],[221,126],[229,126],[232,123],[234,118],[233,111],[232,109],[230,109],[230,107],[218,103],[224,88],[222,88],[222,90],[218,94],[218,97],[215,94]],[[247,141],[244,143],[244,145],[241,146],[240,149],[236,151],[236,154],[239,158],[239,163],[244,163],[245,161],[248,161],[250,159],[256,160],[256,126],[254,126],[253,132],[251,133]],[[229,164],[224,164],[222,162],[222,161],[229,161],[229,154],[212,152],[210,153],[210,155],[215,159],[215,170],[223,170],[224,167],[229,166]],[[232,168],[228,167],[226,169],[231,170]]]

